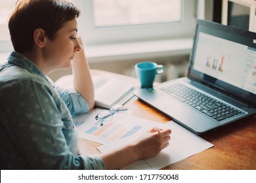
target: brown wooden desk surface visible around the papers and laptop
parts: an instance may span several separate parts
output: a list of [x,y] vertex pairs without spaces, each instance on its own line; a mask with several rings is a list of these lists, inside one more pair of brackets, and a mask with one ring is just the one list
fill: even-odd
[[[118,77],[139,86],[136,78],[108,73],[106,71],[92,70],[93,75],[102,75],[105,78]],[[125,104],[133,110],[133,115],[156,122],[171,120],[154,108],[146,105],[137,97],[133,97]],[[246,120],[227,125],[217,131],[211,131],[201,136],[206,141],[214,144],[209,148],[190,158],[173,163],[163,169],[253,169],[256,170],[256,115]],[[100,144],[80,139],[79,150],[81,154],[99,154],[96,147]]]

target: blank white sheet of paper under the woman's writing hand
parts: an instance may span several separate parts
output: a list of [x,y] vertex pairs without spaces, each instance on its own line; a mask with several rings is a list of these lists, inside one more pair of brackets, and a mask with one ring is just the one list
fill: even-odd
[[[139,123],[139,118],[135,123]],[[150,122],[150,121],[149,121]],[[136,161],[123,167],[123,169],[161,169],[167,165],[171,165],[176,163],[177,161],[181,161],[182,159],[188,158],[202,152],[203,150],[207,150],[211,148],[213,144],[205,141],[198,135],[188,131],[184,127],[175,122],[168,122],[166,124],[160,125],[159,123],[152,123],[152,125],[158,125],[159,127],[166,129],[170,128],[171,133],[171,141],[167,148],[163,149],[160,154],[153,158],[143,159],[140,161]],[[98,147],[100,152],[105,153],[109,151],[113,151],[120,146],[125,146],[125,144],[129,143],[128,139],[126,141],[120,141],[121,143],[109,143],[104,146]]]

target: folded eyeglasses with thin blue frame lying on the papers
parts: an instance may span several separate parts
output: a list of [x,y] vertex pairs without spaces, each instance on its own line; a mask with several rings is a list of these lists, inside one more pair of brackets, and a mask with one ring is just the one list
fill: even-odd
[[123,107],[123,105],[114,105],[109,110],[104,110],[95,116],[95,120],[100,121],[100,125],[103,125],[103,122],[109,122],[113,119],[113,115],[117,113],[126,112],[127,108]]

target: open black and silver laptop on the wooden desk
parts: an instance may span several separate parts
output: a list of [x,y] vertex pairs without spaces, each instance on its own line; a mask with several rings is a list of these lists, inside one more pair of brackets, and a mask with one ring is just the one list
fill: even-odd
[[134,94],[202,135],[256,113],[256,33],[198,20],[188,75]]

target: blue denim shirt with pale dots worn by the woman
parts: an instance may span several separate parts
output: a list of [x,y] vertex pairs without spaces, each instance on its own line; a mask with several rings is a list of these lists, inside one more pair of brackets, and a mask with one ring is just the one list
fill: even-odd
[[79,93],[54,86],[12,52],[0,67],[1,169],[104,169],[102,158],[77,155],[72,115],[88,110]]

